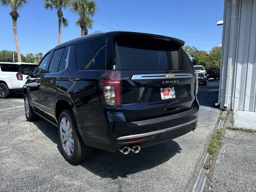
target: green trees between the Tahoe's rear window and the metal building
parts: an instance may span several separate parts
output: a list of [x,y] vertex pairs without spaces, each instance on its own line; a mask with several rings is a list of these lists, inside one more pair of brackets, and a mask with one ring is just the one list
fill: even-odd
[[221,47],[213,47],[209,53],[204,50],[198,50],[194,46],[183,46],[183,49],[192,59],[194,65],[220,68]]

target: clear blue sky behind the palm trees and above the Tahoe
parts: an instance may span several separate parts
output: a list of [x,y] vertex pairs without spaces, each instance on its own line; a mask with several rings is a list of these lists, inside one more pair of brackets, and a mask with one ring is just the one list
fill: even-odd
[[[45,10],[44,0],[28,0],[19,10],[20,51],[46,53],[58,44],[56,10]],[[96,0],[98,13],[89,34],[96,31],[138,31],[172,36],[186,45],[209,51],[221,44],[224,0]],[[9,7],[0,7],[0,50],[16,50]],[[77,15],[63,10],[69,26],[62,28],[62,42],[80,36]],[[117,19],[117,20],[116,20]]]

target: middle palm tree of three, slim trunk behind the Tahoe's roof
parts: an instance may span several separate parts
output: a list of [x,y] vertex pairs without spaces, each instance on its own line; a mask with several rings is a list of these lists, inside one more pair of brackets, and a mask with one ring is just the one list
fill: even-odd
[[55,8],[57,10],[58,15],[58,23],[59,23],[59,38],[58,42],[61,42],[61,24],[64,27],[68,26],[68,20],[63,17],[62,9],[66,9],[69,5],[70,0],[44,0],[44,8],[52,10]]

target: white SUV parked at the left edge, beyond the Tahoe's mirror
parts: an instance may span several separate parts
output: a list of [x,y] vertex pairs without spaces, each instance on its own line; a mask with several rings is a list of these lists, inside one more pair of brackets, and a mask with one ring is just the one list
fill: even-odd
[[0,98],[22,92],[26,77],[32,74],[36,66],[34,63],[0,62]]

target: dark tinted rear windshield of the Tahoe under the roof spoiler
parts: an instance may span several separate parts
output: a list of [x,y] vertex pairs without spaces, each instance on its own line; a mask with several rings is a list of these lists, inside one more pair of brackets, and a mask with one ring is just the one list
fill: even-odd
[[116,42],[121,69],[193,70],[184,50],[163,44]]

